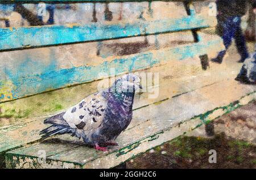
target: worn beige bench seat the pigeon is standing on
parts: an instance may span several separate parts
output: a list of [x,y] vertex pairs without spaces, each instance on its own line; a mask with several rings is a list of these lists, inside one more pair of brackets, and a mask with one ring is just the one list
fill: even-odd
[[[113,168],[255,100],[255,86],[233,80],[236,75],[232,71],[239,68],[238,65],[221,68],[222,74],[211,68],[211,76],[207,71],[194,74],[196,78],[189,79],[189,83],[188,79],[161,76],[166,80],[159,84],[159,98],[149,104],[146,93],[136,96],[133,121],[117,138],[119,147],[113,147],[110,152],[86,147],[81,140],[69,135],[40,141],[38,132],[46,127],[45,117],[28,118],[6,126],[0,131],[0,140],[4,142],[1,148],[15,148],[5,153],[7,168]],[[80,89],[73,88],[68,90]],[[214,93],[210,93],[212,91]],[[23,147],[16,148],[18,144]]]

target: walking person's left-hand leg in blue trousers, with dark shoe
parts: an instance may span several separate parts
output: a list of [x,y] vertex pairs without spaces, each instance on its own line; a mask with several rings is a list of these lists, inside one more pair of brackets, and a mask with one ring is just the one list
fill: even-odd
[[222,26],[222,39],[225,50],[219,52],[217,57],[212,59],[212,62],[216,63],[222,63],[224,55],[226,54],[226,50],[229,48],[232,42],[232,38],[234,37],[234,33],[236,32],[236,29],[233,27],[233,18],[226,19]]

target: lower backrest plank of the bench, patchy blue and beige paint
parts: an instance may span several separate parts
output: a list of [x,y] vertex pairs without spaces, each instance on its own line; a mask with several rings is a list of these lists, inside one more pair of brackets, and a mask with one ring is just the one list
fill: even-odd
[[[182,61],[197,55],[208,54],[211,53],[213,47],[216,47],[214,52],[223,49],[220,37],[204,35],[204,33],[200,35],[202,41],[198,43],[154,49],[131,55],[92,58],[93,63],[97,62],[97,65],[91,65],[92,61],[89,59],[85,62],[86,54],[83,53],[77,59],[63,56],[67,49],[60,50],[59,47],[39,48],[36,53],[32,49],[0,53],[0,57],[6,59],[6,62],[0,65],[0,76],[3,77],[0,80],[0,102],[68,85],[92,82],[102,78],[99,72],[109,76],[111,68],[115,68],[114,75],[119,75],[124,72],[164,65],[177,59]],[[25,51],[27,54],[24,54]],[[76,53],[79,54],[79,52]],[[70,55],[69,57],[72,57]],[[20,59],[18,63],[17,58]],[[67,58],[71,62],[67,61]],[[74,66],[73,63],[79,64]]]

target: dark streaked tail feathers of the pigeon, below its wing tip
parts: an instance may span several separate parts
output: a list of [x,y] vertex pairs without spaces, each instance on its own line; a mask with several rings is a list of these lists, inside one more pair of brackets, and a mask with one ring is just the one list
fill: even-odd
[[53,136],[56,134],[67,134],[67,133],[72,133],[72,128],[68,126],[59,126],[59,125],[52,125],[44,130],[40,131],[40,135],[42,135],[42,138],[48,138],[49,136]]

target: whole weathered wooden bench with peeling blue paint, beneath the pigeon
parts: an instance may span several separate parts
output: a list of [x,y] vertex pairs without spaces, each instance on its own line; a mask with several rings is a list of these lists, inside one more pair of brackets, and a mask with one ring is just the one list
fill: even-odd
[[[184,7],[187,15],[180,18],[1,28],[2,165],[6,162],[7,168],[112,168],[254,100],[255,87],[233,80],[239,65],[212,65],[203,71],[209,66],[206,54],[213,57],[224,49],[220,37],[200,32],[214,26],[216,19],[196,14],[189,1],[184,1]],[[158,36],[180,31],[191,31],[192,42],[159,48]],[[101,54],[102,42],[139,36],[155,36],[155,49],[122,56]],[[81,49],[92,43],[98,49],[90,61]],[[61,56],[67,50],[81,53],[81,57]],[[69,135],[40,140],[38,132],[47,126],[43,119],[97,91],[98,83],[105,80],[99,73],[109,76],[111,68],[115,68],[114,75],[131,71],[159,73],[159,83],[147,87],[152,91],[136,96],[133,121],[118,137],[119,147],[111,152],[97,152]],[[148,98],[154,90],[159,90],[159,96]],[[39,158],[44,154],[46,162]]]

